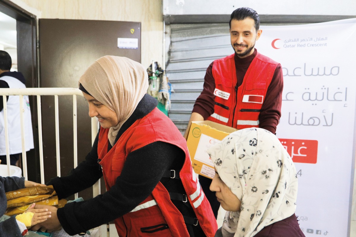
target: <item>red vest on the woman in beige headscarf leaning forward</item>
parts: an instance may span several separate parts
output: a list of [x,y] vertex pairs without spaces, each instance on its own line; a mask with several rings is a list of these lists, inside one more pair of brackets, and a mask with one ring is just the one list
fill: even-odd
[[[190,205],[206,236],[214,236],[218,226],[208,199],[192,169],[187,144],[176,126],[157,108],[136,120],[108,151],[109,129],[100,129],[98,155],[106,188],[115,185],[127,155],[155,141],[168,142],[185,152],[185,161],[179,173]],[[143,159],[145,157],[142,157]],[[115,208],[115,207],[113,207]],[[115,220],[119,236],[189,236],[182,214],[172,203],[169,193],[161,182],[153,192],[131,212]],[[143,228],[143,229],[142,229]],[[157,231],[157,232],[156,232]]]

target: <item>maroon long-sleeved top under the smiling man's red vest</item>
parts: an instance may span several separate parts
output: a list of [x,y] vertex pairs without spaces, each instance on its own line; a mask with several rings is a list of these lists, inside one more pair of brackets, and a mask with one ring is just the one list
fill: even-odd
[[[235,54],[235,68],[237,77],[237,87],[242,84],[244,80],[246,71],[250,66],[253,58],[257,54],[257,49],[246,58],[239,58]],[[214,63],[214,62],[213,62]],[[203,116],[206,120],[211,114],[214,113],[214,90],[215,90],[215,80],[213,77],[213,63],[211,63],[206,69],[206,74],[204,77],[203,91],[197,98],[194,104],[192,112],[196,112]],[[260,128],[266,129],[271,133],[276,133],[276,127],[281,118],[281,106],[282,106],[282,91],[283,91],[283,72],[281,64],[279,64],[274,71],[271,84],[268,87],[265,101],[262,104],[261,113],[259,117]]]

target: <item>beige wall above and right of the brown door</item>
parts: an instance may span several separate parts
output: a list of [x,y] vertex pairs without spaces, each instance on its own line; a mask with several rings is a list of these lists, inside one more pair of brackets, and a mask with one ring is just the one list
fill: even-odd
[[12,0],[37,18],[141,22],[141,63],[162,65],[162,0]]

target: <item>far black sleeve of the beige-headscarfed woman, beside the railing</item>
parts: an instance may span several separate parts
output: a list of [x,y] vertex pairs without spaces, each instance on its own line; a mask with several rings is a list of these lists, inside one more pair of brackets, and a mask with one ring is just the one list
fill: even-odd
[[85,157],[85,161],[72,169],[68,176],[52,178],[47,185],[53,185],[58,194],[58,198],[67,198],[95,184],[103,176],[100,165],[98,164],[98,136],[96,135],[93,147]]

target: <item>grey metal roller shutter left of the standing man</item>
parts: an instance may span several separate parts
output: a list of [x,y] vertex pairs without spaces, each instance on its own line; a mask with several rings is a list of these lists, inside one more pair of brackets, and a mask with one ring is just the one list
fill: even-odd
[[174,24],[166,74],[172,83],[169,118],[184,133],[195,99],[203,90],[206,68],[231,54],[229,24]]

